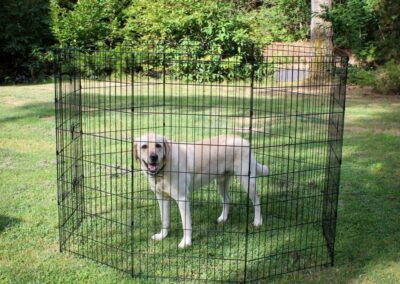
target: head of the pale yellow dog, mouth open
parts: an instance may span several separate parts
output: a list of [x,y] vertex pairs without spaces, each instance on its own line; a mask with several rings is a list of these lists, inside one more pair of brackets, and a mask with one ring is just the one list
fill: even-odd
[[141,169],[151,176],[156,176],[167,163],[168,149],[169,143],[165,137],[146,133],[135,139],[133,151]]

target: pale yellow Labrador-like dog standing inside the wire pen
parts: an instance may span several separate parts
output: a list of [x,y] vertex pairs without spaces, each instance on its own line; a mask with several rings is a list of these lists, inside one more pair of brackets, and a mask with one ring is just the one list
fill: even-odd
[[162,240],[168,235],[172,198],[178,205],[183,227],[183,238],[178,247],[190,246],[192,219],[189,193],[213,180],[217,181],[223,201],[222,213],[217,221],[225,222],[230,202],[229,181],[233,175],[240,179],[243,190],[253,203],[253,225],[262,225],[255,178],[268,175],[268,167],[257,163],[247,140],[240,136],[222,135],[195,143],[179,143],[147,133],[135,139],[133,151],[160,207],[161,230],[152,236],[153,240]]

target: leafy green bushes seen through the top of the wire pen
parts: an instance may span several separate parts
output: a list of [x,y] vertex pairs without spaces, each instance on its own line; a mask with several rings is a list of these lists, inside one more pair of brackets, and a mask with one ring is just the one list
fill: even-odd
[[[196,50],[201,52],[196,53]],[[144,45],[129,49],[124,46],[67,49],[63,53],[61,60],[68,59],[62,63],[64,72],[80,72],[91,79],[126,76],[132,72],[160,78],[165,72],[168,79],[182,81],[248,80],[251,76],[254,80],[261,80],[274,70],[271,64],[258,64],[263,60],[258,52],[224,57],[183,44],[176,47]]]

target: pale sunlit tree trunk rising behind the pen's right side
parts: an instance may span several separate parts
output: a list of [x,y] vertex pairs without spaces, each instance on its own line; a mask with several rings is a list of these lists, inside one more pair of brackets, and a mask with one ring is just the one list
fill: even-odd
[[318,47],[332,49],[332,25],[320,18],[324,7],[332,8],[332,0],[311,0],[311,41]]

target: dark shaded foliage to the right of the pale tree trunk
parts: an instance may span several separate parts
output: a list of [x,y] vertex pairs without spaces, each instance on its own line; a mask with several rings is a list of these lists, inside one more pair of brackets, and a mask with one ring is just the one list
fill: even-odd
[[335,1],[324,18],[332,22],[335,44],[352,49],[365,63],[400,59],[398,0]]

